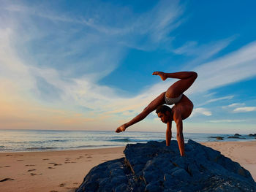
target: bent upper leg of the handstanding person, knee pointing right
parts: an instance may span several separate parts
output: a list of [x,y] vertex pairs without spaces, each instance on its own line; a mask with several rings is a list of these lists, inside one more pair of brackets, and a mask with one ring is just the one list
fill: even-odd
[[166,91],[166,96],[169,98],[176,98],[182,93],[187,91],[187,89],[193,84],[197,78],[196,72],[176,72],[176,73],[164,73],[164,72],[154,72],[154,75],[159,75],[162,80],[167,78],[181,79],[175,82]]

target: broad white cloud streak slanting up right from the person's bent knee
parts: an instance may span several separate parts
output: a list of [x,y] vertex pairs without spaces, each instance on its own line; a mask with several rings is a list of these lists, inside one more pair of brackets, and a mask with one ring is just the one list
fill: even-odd
[[239,82],[256,75],[256,42],[251,42],[239,50],[197,66],[198,77],[187,94],[201,94],[233,82]]

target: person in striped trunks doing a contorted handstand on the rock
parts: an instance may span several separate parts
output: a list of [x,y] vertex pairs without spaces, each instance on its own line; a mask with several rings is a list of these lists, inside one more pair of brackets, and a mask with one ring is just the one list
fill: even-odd
[[[167,78],[176,78],[180,79],[175,82],[167,91],[161,93],[156,99],[151,101],[150,104],[140,112],[135,118],[130,120],[127,123],[116,128],[116,132],[119,133],[121,131],[125,131],[129,126],[139,122],[146,118],[146,116],[163,104],[174,104],[172,109],[170,110],[157,110],[157,115],[161,118],[163,123],[167,123],[167,131],[166,131],[166,145],[170,145],[171,139],[171,122],[174,120],[177,125],[177,140],[178,147],[181,152],[181,155],[184,155],[184,137],[182,134],[183,126],[182,120],[189,117],[193,110],[193,103],[190,101],[187,96],[183,93],[187,91],[187,89],[193,84],[195,79],[197,78],[196,72],[176,72],[176,73],[164,73],[164,72],[154,72],[153,75],[159,75],[162,80],[166,80]],[[162,108],[162,107],[160,107]],[[166,108],[166,107],[164,107]],[[170,107],[169,107],[170,108]]]

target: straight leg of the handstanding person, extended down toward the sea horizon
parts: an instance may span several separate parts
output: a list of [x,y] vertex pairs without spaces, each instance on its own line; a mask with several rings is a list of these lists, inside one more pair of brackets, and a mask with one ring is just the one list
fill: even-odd
[[119,133],[121,131],[125,131],[127,127],[132,126],[135,123],[138,123],[140,120],[143,120],[144,118],[146,118],[146,116],[148,116],[149,113],[151,113],[154,110],[157,110],[157,107],[162,104],[165,104],[165,92],[161,93],[159,96],[157,96],[156,99],[151,101],[151,103],[148,104],[148,106],[143,110],[143,112],[140,112],[140,114],[137,115],[135,118],[130,120],[128,123],[124,123],[124,125],[119,126],[116,129],[116,132]]

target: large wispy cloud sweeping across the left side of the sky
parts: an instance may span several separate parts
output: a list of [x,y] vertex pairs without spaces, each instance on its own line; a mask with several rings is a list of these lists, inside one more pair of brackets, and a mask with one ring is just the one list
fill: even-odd
[[[97,82],[116,69],[125,53],[124,44],[148,50],[168,41],[168,34],[179,25],[178,17],[183,12],[178,1],[172,4],[160,1],[138,18],[132,16],[115,27],[111,25],[112,20],[108,24],[103,21],[108,18],[100,10],[98,18],[76,18],[58,15],[47,7],[39,12],[40,7],[43,5],[5,7],[12,17],[0,31],[0,48],[4,50],[0,73],[1,82],[8,81],[13,87],[4,85],[2,91],[11,93],[12,89],[20,98],[18,102],[29,96],[33,99],[31,104],[42,108],[49,105],[61,108],[63,104],[66,109],[85,107],[90,109],[85,112],[86,122],[90,117],[106,118],[118,112],[130,118],[159,95],[153,86],[127,99],[118,96],[118,90]],[[71,27],[74,25],[75,28]],[[147,39],[145,42],[140,40],[143,37]],[[33,110],[33,105],[29,109]],[[39,114],[43,113],[40,110]]]

